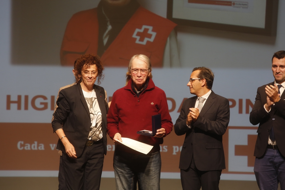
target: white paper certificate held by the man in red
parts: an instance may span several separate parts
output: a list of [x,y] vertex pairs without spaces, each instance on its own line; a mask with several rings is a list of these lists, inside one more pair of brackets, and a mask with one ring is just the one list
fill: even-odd
[[138,152],[141,152],[143,154],[147,154],[153,146],[151,145],[148,145],[148,144],[145,144],[145,143],[142,143],[142,142],[139,142],[139,141],[136,141],[136,140],[133,140],[131,138],[124,138],[122,137],[122,141],[119,141],[118,139],[115,139],[117,142],[127,146],[127,147],[130,147]]

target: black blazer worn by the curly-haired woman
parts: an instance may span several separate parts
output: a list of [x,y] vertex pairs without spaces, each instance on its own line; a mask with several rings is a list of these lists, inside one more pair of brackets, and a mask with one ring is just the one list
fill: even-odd
[[[107,112],[108,104],[105,102],[105,91],[103,87],[94,84],[94,90],[97,96],[99,107],[102,113],[102,131],[103,131],[103,147],[104,154],[107,153]],[[64,133],[70,143],[74,146],[76,156],[80,157],[91,126],[91,119],[86,100],[84,98],[80,84],[62,89],[59,92],[58,100],[56,101],[58,108],[54,112],[54,120],[52,128],[56,130],[63,128]],[[65,153],[64,145],[60,140],[56,146],[58,150]]]

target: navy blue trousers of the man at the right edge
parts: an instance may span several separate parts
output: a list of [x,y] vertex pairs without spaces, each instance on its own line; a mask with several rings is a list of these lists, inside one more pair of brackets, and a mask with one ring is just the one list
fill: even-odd
[[266,149],[262,158],[255,158],[254,173],[260,190],[285,189],[285,160],[278,150]]

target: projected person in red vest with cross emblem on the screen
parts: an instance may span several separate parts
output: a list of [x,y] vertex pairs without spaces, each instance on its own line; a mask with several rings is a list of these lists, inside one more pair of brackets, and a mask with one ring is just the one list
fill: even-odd
[[175,23],[144,9],[136,0],[101,0],[78,12],[66,26],[60,61],[72,65],[82,54],[97,54],[104,66],[128,66],[145,54],[153,67],[180,67]]

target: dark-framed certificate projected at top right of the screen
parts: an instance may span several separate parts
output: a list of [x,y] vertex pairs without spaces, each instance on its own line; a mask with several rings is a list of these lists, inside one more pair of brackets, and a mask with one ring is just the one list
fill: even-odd
[[168,0],[167,18],[179,25],[276,36],[278,0]]

